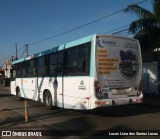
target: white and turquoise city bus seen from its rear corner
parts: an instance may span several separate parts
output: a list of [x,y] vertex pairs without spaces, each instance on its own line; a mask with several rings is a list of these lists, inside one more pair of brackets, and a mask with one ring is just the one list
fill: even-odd
[[12,63],[11,94],[48,108],[89,110],[141,103],[138,40],[94,34]]

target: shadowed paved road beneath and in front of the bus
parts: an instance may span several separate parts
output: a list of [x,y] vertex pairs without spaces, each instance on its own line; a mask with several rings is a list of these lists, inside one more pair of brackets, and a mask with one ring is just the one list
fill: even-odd
[[[66,135],[101,135],[107,130],[159,130],[160,108],[143,104],[101,108],[92,111],[47,110],[28,100],[29,122],[24,122],[24,102],[7,88],[0,88],[0,130],[54,130]],[[69,131],[68,131],[69,130]],[[75,132],[73,132],[75,131]],[[159,136],[160,137],[160,136]]]

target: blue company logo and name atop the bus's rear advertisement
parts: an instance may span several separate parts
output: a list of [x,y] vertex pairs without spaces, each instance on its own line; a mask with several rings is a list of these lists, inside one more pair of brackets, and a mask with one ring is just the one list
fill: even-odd
[[99,48],[104,48],[105,46],[116,46],[117,43],[115,41],[109,41],[109,40],[98,40],[97,39],[97,46]]

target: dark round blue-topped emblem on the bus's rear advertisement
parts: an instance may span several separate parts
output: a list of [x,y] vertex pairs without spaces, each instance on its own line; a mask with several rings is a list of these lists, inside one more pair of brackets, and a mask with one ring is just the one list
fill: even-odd
[[138,72],[138,60],[136,54],[131,51],[120,51],[121,62],[119,63],[119,69],[123,77],[126,79],[132,79]]

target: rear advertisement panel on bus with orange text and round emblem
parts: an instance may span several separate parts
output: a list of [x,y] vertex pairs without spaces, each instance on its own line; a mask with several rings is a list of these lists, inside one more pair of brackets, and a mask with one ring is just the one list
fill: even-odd
[[140,51],[134,39],[99,36],[97,74],[102,88],[130,87],[139,71]]

